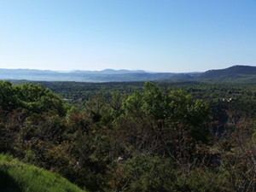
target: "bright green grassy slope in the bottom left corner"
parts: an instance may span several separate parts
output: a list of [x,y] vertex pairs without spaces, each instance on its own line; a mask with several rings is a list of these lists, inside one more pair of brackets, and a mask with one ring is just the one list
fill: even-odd
[[47,172],[0,154],[0,191],[83,192],[58,174]]

